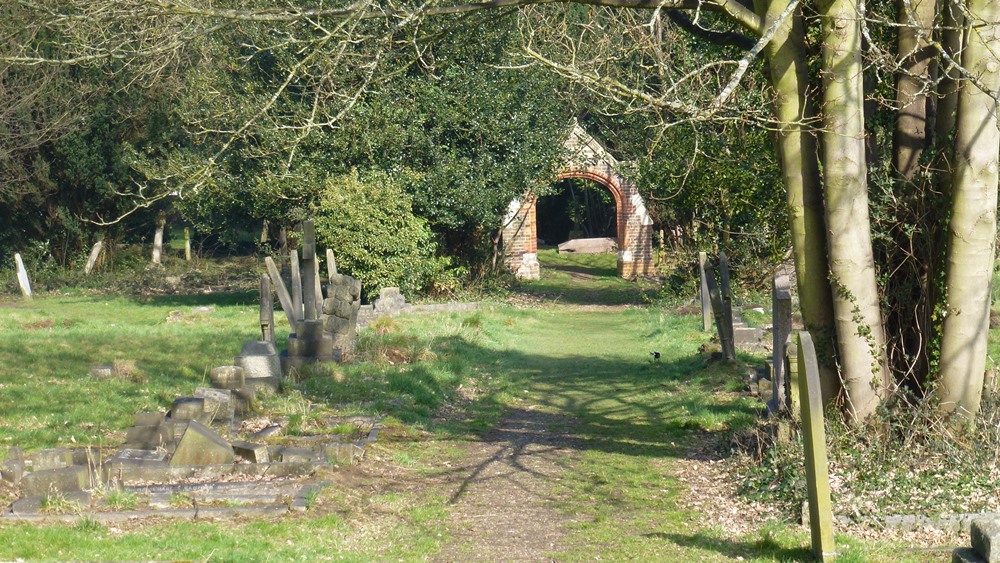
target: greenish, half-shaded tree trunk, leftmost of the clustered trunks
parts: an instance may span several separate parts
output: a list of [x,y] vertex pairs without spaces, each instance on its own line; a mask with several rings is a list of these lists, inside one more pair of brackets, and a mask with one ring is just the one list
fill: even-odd
[[[789,3],[790,0],[755,1],[757,13],[768,22],[765,27],[784,13]],[[765,53],[776,94],[775,117],[781,124],[776,143],[788,199],[799,304],[806,329],[816,343],[823,401],[829,404],[840,390],[840,378],[836,369],[823,191],[816,137],[811,129],[816,112],[807,96],[809,74],[803,45],[802,18],[796,12],[774,35]]]

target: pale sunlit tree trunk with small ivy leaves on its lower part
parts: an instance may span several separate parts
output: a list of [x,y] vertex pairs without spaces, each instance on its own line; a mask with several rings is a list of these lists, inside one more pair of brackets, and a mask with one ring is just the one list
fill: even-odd
[[830,273],[847,410],[855,421],[875,411],[887,377],[868,215],[860,10],[857,0],[827,0],[821,10]]

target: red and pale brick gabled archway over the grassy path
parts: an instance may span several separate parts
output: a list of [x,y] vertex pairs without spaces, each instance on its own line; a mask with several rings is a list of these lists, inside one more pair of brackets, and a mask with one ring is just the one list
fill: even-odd
[[[649,276],[653,272],[653,221],[635,185],[618,173],[619,162],[574,123],[565,143],[566,166],[556,180],[585,178],[601,184],[615,199],[618,223],[618,275]],[[537,197],[515,199],[504,218],[504,261],[521,279],[538,279]]]

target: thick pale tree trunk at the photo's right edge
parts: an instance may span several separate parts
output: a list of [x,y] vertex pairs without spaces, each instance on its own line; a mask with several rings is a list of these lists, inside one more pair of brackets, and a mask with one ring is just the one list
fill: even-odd
[[989,92],[971,82],[959,92],[938,396],[944,412],[971,421],[983,389],[996,258],[1000,128],[990,93],[1000,89],[1000,3],[969,0],[967,7],[962,65]]

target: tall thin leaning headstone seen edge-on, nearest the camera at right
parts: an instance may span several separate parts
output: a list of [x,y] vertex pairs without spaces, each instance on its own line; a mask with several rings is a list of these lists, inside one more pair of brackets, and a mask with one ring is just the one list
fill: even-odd
[[809,494],[809,529],[813,555],[827,561],[835,555],[833,511],[830,504],[826,429],[823,426],[823,391],[816,348],[808,332],[799,333],[799,402],[802,404],[802,445],[805,450],[806,488]]

